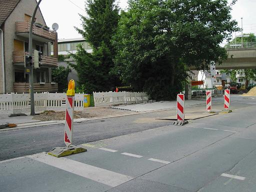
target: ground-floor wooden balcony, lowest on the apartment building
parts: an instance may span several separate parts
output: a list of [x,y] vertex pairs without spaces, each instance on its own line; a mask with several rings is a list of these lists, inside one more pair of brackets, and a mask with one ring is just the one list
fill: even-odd
[[[13,83],[13,90],[17,93],[22,92],[29,92],[29,83],[28,82],[14,82]],[[58,91],[58,84],[51,84],[51,83],[34,83],[34,92],[57,92]]]

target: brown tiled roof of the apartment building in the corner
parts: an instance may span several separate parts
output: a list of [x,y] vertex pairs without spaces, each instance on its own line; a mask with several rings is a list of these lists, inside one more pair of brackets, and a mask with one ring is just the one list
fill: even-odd
[[10,15],[20,0],[0,0],[0,26]]

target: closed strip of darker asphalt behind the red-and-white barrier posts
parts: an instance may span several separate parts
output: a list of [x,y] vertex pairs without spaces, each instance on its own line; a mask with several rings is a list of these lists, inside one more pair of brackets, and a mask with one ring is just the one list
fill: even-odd
[[[249,101],[248,101],[249,102]],[[246,102],[234,102],[232,108],[248,106]],[[222,109],[223,104],[214,104],[213,109]],[[188,107],[185,113],[206,113],[205,106]],[[159,120],[176,114],[175,109],[119,116],[73,124],[73,144],[92,142],[114,136],[172,124],[173,121]],[[34,126],[14,130],[0,130],[0,160],[49,151],[63,142],[64,124]]]

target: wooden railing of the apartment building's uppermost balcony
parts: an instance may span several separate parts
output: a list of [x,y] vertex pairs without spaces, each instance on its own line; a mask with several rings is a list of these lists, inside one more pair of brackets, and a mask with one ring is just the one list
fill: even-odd
[[[16,22],[16,33],[28,33],[30,27],[30,21],[17,21]],[[43,29],[43,27],[38,27],[33,24],[32,33],[43,38],[50,39],[51,41],[55,41],[56,32],[50,29]]]

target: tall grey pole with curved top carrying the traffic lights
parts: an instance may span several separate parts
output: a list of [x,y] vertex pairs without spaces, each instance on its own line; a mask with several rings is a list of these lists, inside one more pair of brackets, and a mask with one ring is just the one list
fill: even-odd
[[[36,10],[40,4],[41,0],[39,0],[34,8],[34,12],[31,18],[30,28],[29,28],[29,37],[28,37],[28,51],[29,55],[33,57],[32,52],[32,28],[34,23],[34,16],[36,13]],[[30,115],[35,115],[34,112],[34,75],[33,75],[33,63],[29,65],[29,89],[30,89]]]

